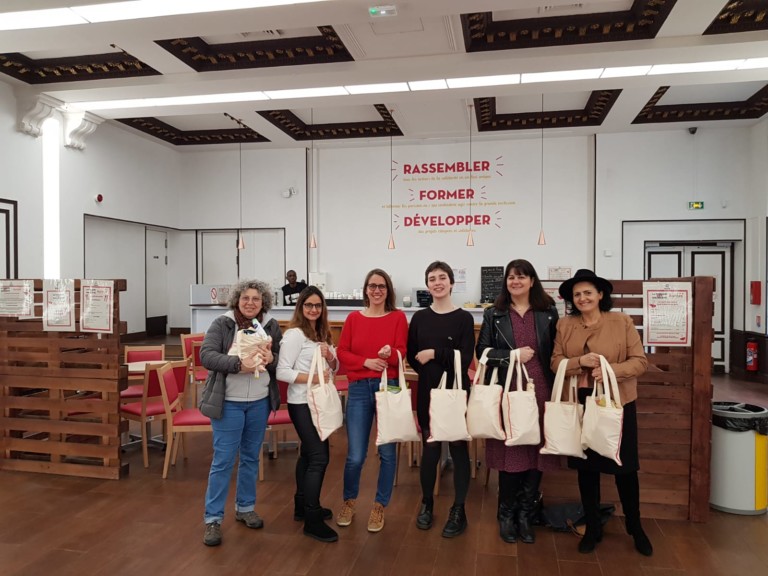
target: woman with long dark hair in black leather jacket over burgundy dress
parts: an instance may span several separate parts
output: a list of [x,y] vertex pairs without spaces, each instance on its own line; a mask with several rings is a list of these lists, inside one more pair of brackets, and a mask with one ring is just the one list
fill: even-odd
[[527,260],[512,260],[504,271],[506,285],[494,305],[483,314],[477,341],[477,357],[488,351],[489,367],[499,367],[504,382],[510,350],[519,349],[520,359],[535,382],[542,442],[531,446],[505,446],[488,439],[485,458],[488,468],[499,471],[499,503],[496,518],[499,535],[514,543],[518,537],[533,544],[533,515],[542,471],[557,470],[558,456],[539,454],[544,445],[544,403],[552,394],[554,374],[549,369],[557,327],[555,301],[544,292],[538,274]]

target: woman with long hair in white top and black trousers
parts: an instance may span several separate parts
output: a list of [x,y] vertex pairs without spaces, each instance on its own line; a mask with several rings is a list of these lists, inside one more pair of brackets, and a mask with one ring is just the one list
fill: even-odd
[[327,381],[329,366],[335,370],[338,364],[336,350],[328,327],[323,293],[315,286],[308,286],[299,294],[293,318],[283,335],[277,379],[289,384],[288,414],[301,440],[296,462],[294,519],[304,520],[307,536],[321,542],[335,542],[339,538],[336,531],[325,523],[333,513],[320,506],[320,490],[328,467],[328,440],[320,440],[307,405],[307,380],[317,348],[324,359],[321,369]]

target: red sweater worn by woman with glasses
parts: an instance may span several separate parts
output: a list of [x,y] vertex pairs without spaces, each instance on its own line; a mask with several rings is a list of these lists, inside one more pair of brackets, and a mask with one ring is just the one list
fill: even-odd
[[363,366],[368,358],[378,358],[382,346],[389,344],[387,376],[397,378],[397,352],[405,359],[405,345],[408,340],[408,320],[402,310],[394,310],[386,316],[371,318],[361,312],[347,316],[341,329],[339,346],[336,350],[339,362],[350,382],[363,378],[379,378],[381,372],[374,372]]

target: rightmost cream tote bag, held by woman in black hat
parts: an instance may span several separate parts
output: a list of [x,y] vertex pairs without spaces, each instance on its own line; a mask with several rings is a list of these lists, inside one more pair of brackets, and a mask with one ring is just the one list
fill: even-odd
[[595,382],[592,395],[587,396],[584,407],[581,447],[585,450],[591,448],[621,466],[619,451],[624,408],[621,406],[619,384],[613,368],[604,356],[600,356],[600,370],[602,379]]

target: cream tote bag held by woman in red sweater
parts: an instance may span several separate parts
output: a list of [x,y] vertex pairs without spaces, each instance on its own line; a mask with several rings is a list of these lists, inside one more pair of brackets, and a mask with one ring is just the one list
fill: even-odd
[[411,390],[405,382],[403,357],[397,351],[399,392],[387,388],[387,369],[381,373],[381,384],[376,392],[376,446],[391,442],[418,442],[416,421],[413,419]]

